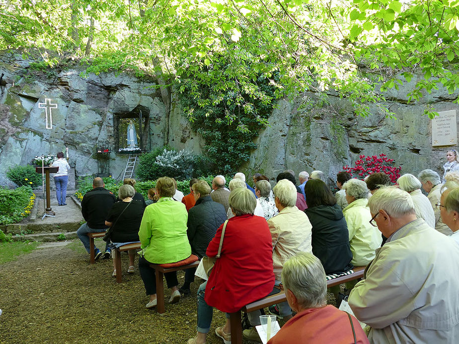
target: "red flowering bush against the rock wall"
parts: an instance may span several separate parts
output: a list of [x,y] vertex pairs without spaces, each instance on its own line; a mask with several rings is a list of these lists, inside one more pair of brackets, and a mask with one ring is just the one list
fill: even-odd
[[369,174],[383,172],[395,184],[400,177],[401,167],[394,167],[394,160],[387,158],[385,154],[381,153],[379,156],[360,155],[360,159],[355,162],[354,167],[343,166],[343,171],[350,173],[355,178],[358,178],[358,175],[362,180]]

